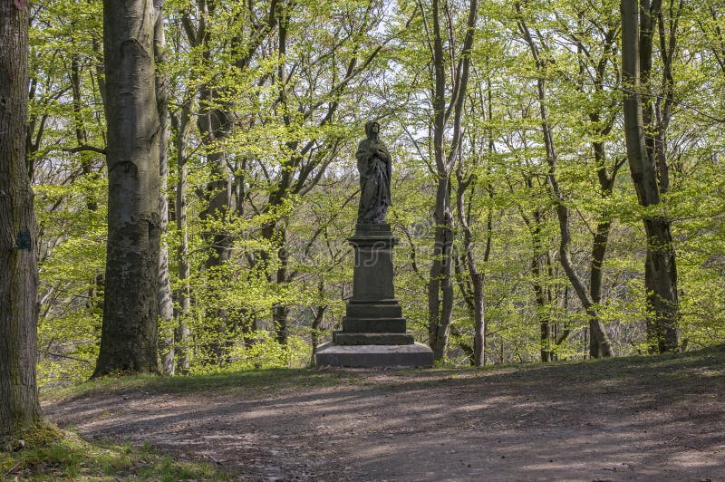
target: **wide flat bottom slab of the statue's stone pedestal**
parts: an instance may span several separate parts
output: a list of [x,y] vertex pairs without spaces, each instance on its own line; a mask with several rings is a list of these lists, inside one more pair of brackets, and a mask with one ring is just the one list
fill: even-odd
[[422,343],[408,345],[336,345],[317,347],[317,366],[372,368],[433,366],[433,352]]

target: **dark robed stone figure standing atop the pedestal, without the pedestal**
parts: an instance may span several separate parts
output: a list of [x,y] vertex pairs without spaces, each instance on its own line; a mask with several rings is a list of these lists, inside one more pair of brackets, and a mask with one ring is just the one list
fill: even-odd
[[391,154],[378,139],[379,133],[376,121],[365,123],[367,139],[360,142],[355,154],[360,171],[358,224],[384,223],[391,205]]

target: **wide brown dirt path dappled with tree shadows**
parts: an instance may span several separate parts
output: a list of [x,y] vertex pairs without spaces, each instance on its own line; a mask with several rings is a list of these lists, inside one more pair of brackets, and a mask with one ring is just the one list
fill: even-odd
[[[306,373],[310,373],[307,371]],[[319,372],[314,372],[319,375]],[[725,351],[331,383],[94,393],[46,404],[244,480],[723,480]]]

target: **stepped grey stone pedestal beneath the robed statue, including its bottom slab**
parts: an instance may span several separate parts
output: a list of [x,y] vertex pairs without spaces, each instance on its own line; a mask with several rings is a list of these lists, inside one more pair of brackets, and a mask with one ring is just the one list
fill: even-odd
[[355,252],[353,297],[343,330],[317,349],[318,366],[432,366],[433,353],[405,329],[392,284],[392,247],[398,239],[388,224],[362,224],[349,238]]

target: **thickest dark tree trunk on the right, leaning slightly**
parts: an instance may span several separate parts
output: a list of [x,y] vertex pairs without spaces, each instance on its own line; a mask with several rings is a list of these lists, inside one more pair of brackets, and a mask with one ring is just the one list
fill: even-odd
[[[655,170],[654,149],[648,146],[652,138],[645,135],[643,98],[640,92],[648,88],[645,79],[652,68],[652,22],[659,9],[659,0],[649,5],[643,2],[642,15],[637,0],[622,0],[622,76],[624,97],[624,132],[627,159],[634,189],[643,207],[659,205],[661,182]],[[654,7],[654,8],[652,8]],[[642,32],[640,32],[642,23]],[[641,79],[641,68],[645,75]],[[650,101],[648,101],[650,102]],[[647,109],[650,111],[650,109]],[[648,117],[651,117],[648,114]],[[677,350],[679,345],[679,300],[677,294],[677,265],[672,247],[670,220],[663,215],[644,217],[647,253],[644,265],[644,286],[647,290],[647,339],[651,352]]]

